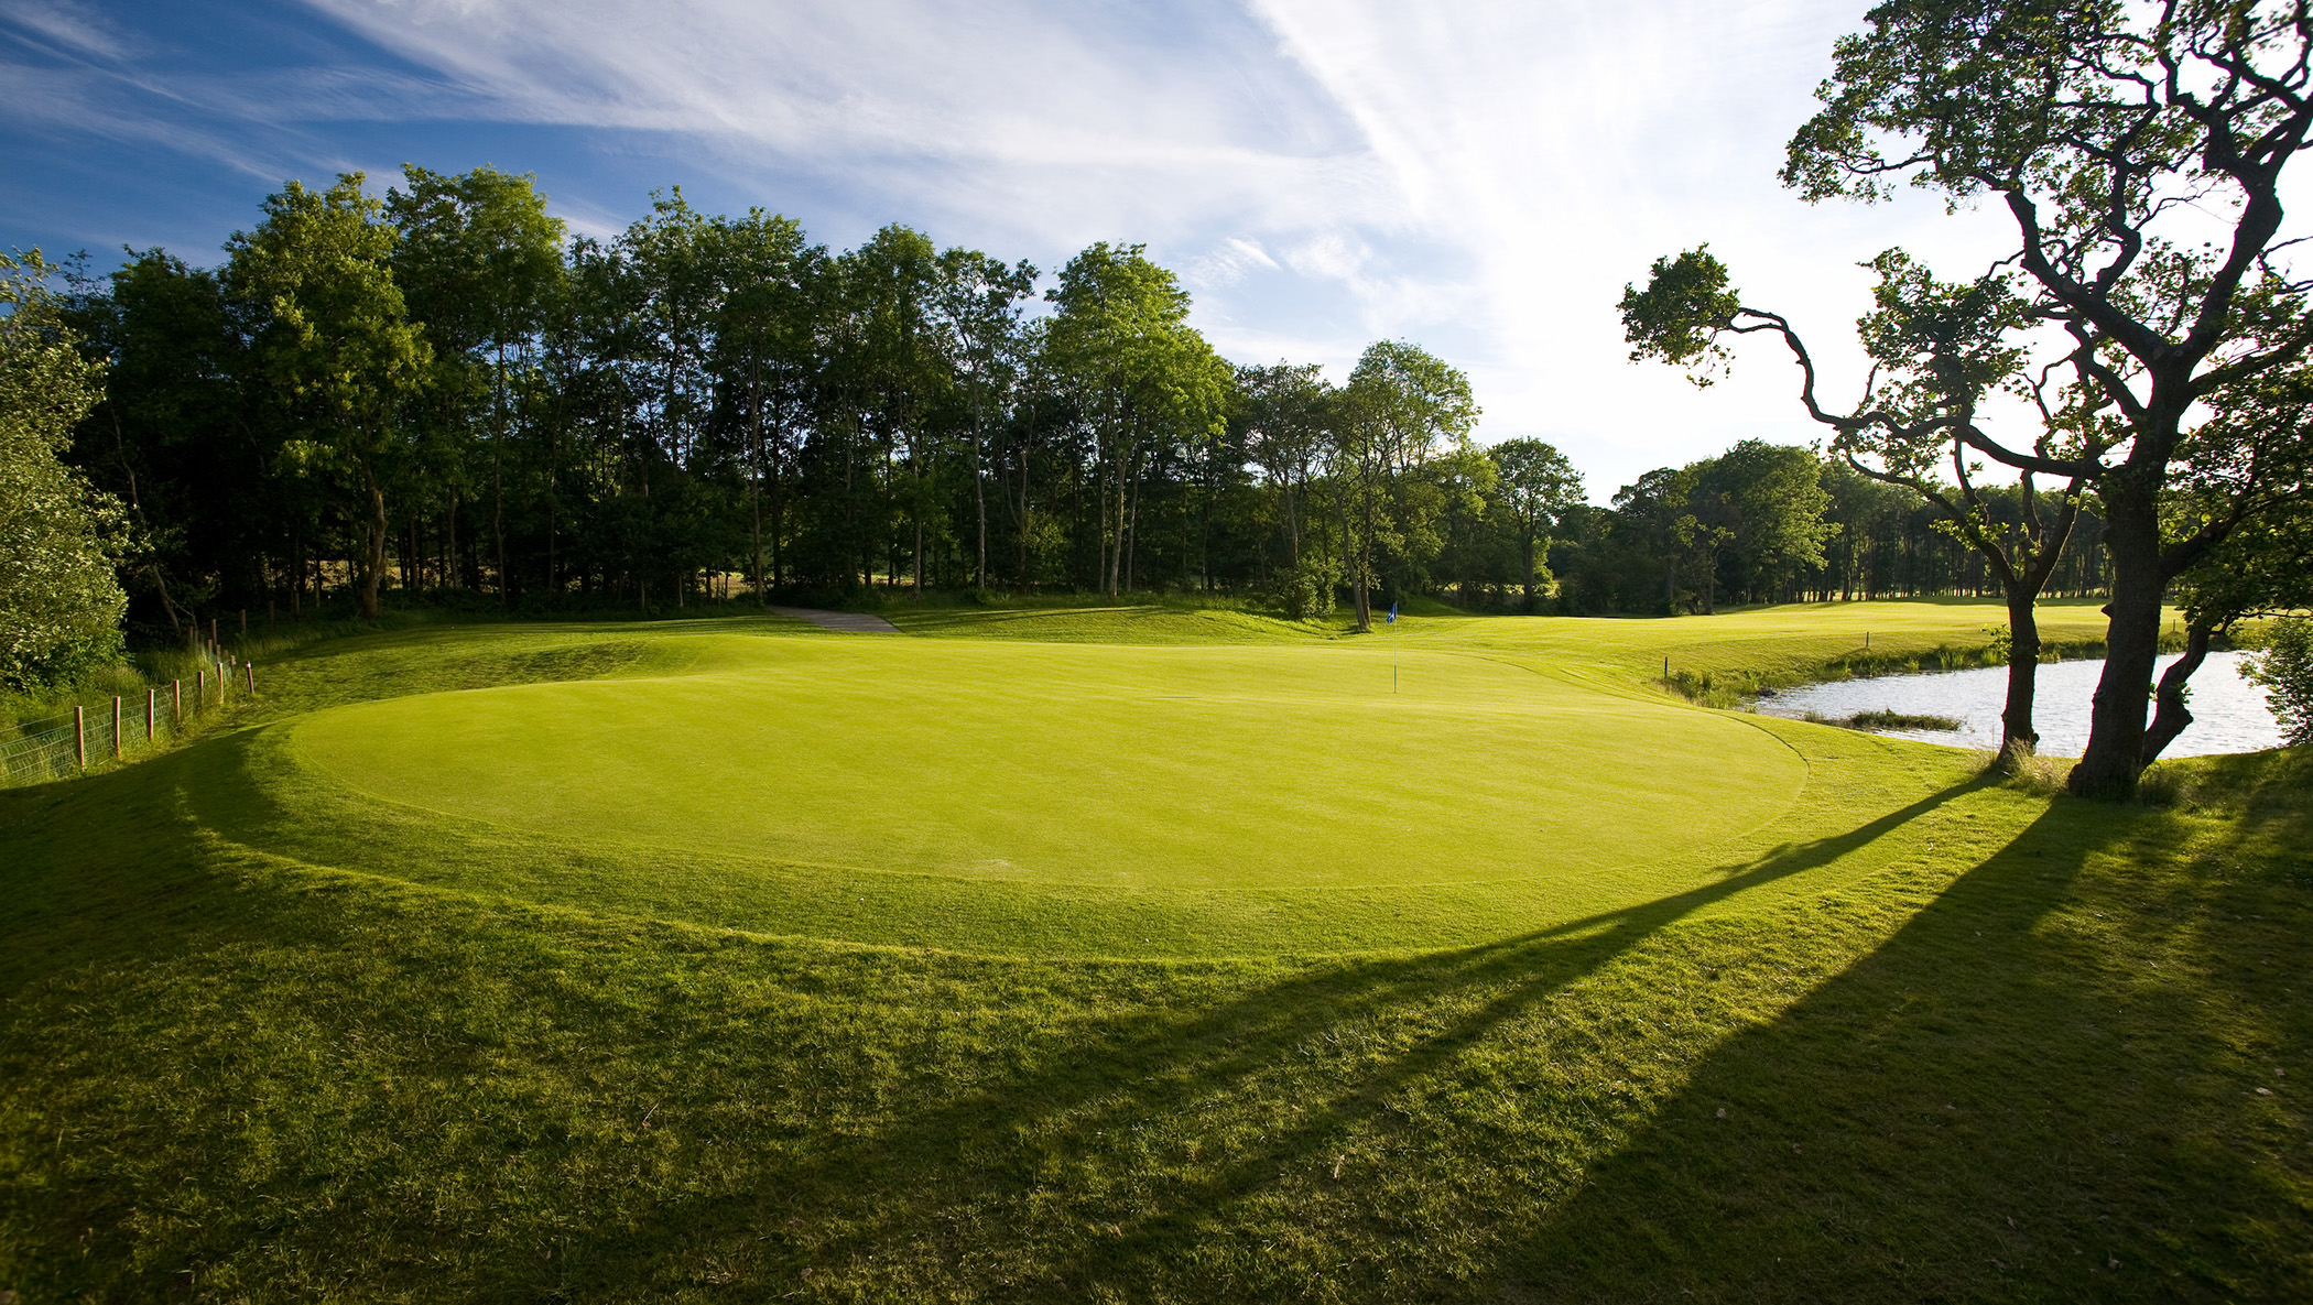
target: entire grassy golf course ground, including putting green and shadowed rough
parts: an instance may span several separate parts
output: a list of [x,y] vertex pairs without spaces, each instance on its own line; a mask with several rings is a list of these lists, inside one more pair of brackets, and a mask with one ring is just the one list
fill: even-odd
[[886,615],[259,641],[0,789],[0,1291],[2313,1296],[2301,750],[1705,706],[1998,604]]

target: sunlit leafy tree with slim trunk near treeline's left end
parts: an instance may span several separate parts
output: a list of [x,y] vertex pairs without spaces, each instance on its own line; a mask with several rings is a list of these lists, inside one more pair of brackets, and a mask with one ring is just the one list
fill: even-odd
[[310,437],[291,456],[352,470],[363,516],[361,615],[377,615],[386,569],[386,488],[400,465],[400,407],[430,349],[393,282],[396,229],[349,171],[324,192],[291,180],[254,231],[227,243],[227,285],[254,326],[252,356]]

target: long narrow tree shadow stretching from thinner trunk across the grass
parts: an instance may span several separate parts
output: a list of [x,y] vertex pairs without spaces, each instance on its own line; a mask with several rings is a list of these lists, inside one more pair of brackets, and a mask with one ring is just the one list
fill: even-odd
[[[1006,1298],[1136,1298],[1159,1284],[1198,1296],[1214,1284],[1182,1268],[1187,1247],[1231,1236],[1231,1212],[1288,1175],[1328,1164],[1339,1175],[1339,1138],[1388,1113],[1409,1085],[1453,1076],[1464,1053],[1506,1020],[1698,909],[1825,868],[1985,784],[1973,777],[1855,831],[1767,851],[1686,893],[1522,937],[1416,958],[1316,963],[1180,1011],[1147,1002],[1069,1055],[995,1074],[893,1127],[761,1171],[754,1199],[701,1199],[659,1219],[682,1229],[685,1256],[749,1245],[749,1275],[770,1280],[810,1280],[816,1266],[826,1282],[830,1268],[923,1254],[932,1243],[962,1280],[974,1275],[974,1261],[1002,1259],[1006,1273],[1034,1266],[1004,1282]],[[1344,1030],[1367,1039],[1369,1053],[1305,1071]],[[1256,1145],[1231,1148],[1221,1162],[1175,1166],[1147,1157],[1145,1173],[1119,1182],[1126,1175],[1115,1173],[1108,1138],[1150,1120],[1235,1111],[1279,1090],[1293,1101],[1272,1104]],[[1055,1217],[985,1222],[985,1210],[1039,1208]],[[615,1291],[627,1273],[620,1266],[634,1263],[629,1252],[625,1238],[571,1245],[555,1273],[571,1289]]]

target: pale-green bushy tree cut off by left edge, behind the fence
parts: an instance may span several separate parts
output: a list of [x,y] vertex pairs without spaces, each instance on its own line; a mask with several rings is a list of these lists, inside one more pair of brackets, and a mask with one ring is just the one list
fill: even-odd
[[127,595],[113,576],[118,504],[60,454],[104,396],[46,280],[0,255],[0,687],[69,680],[120,655]]

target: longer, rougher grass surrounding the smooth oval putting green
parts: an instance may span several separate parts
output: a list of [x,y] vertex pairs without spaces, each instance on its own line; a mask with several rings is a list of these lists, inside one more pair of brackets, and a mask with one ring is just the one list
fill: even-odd
[[[1429,639],[1441,662],[1492,657],[1552,692],[1719,720],[1668,703],[1647,662],[1665,646],[1698,664],[1732,666],[1709,659],[1737,646],[1806,662],[1837,639],[1753,639],[1790,620],[1772,611],[1719,620],[1732,625],[1506,618],[1455,639],[1409,622],[1404,648]],[[1945,641],[1985,625],[1948,620]],[[278,754],[328,703],[384,710],[493,678],[541,687],[446,696],[523,699],[574,673],[590,690],[682,683],[761,652],[726,641],[849,648],[768,625],[685,634],[317,646],[261,666],[273,727],[0,794],[0,1289],[2313,1293],[2301,752],[2163,764],[2165,805],[2107,808],[1788,722],[1779,738],[1823,782],[1783,817],[1800,824],[1719,875],[1571,919],[1490,907],[1492,937],[1441,946],[1180,958],[731,928],[703,919],[710,870],[597,838],[581,840],[590,879],[525,882],[537,831],[396,826],[382,803],[386,824],[338,826],[349,808],[322,803],[326,775]],[[604,652],[620,641],[638,648]],[[902,643],[948,676],[985,652],[886,641]],[[1342,650],[1291,643],[1277,652]],[[1471,696],[1503,692],[1469,676]],[[923,687],[872,685],[893,703]],[[1688,824],[1716,819],[1716,761],[1682,757]],[[911,801],[863,791],[851,821],[895,824]],[[1066,787],[1048,801],[1073,810]],[[1342,796],[1344,821],[1360,801]],[[1402,858],[1485,819],[1446,784],[1425,814],[1383,831]],[[396,838],[412,845],[377,847]],[[662,877],[678,884],[648,886]],[[1372,909],[1436,891],[1404,884]],[[1057,939],[1099,914],[1045,919]]]

